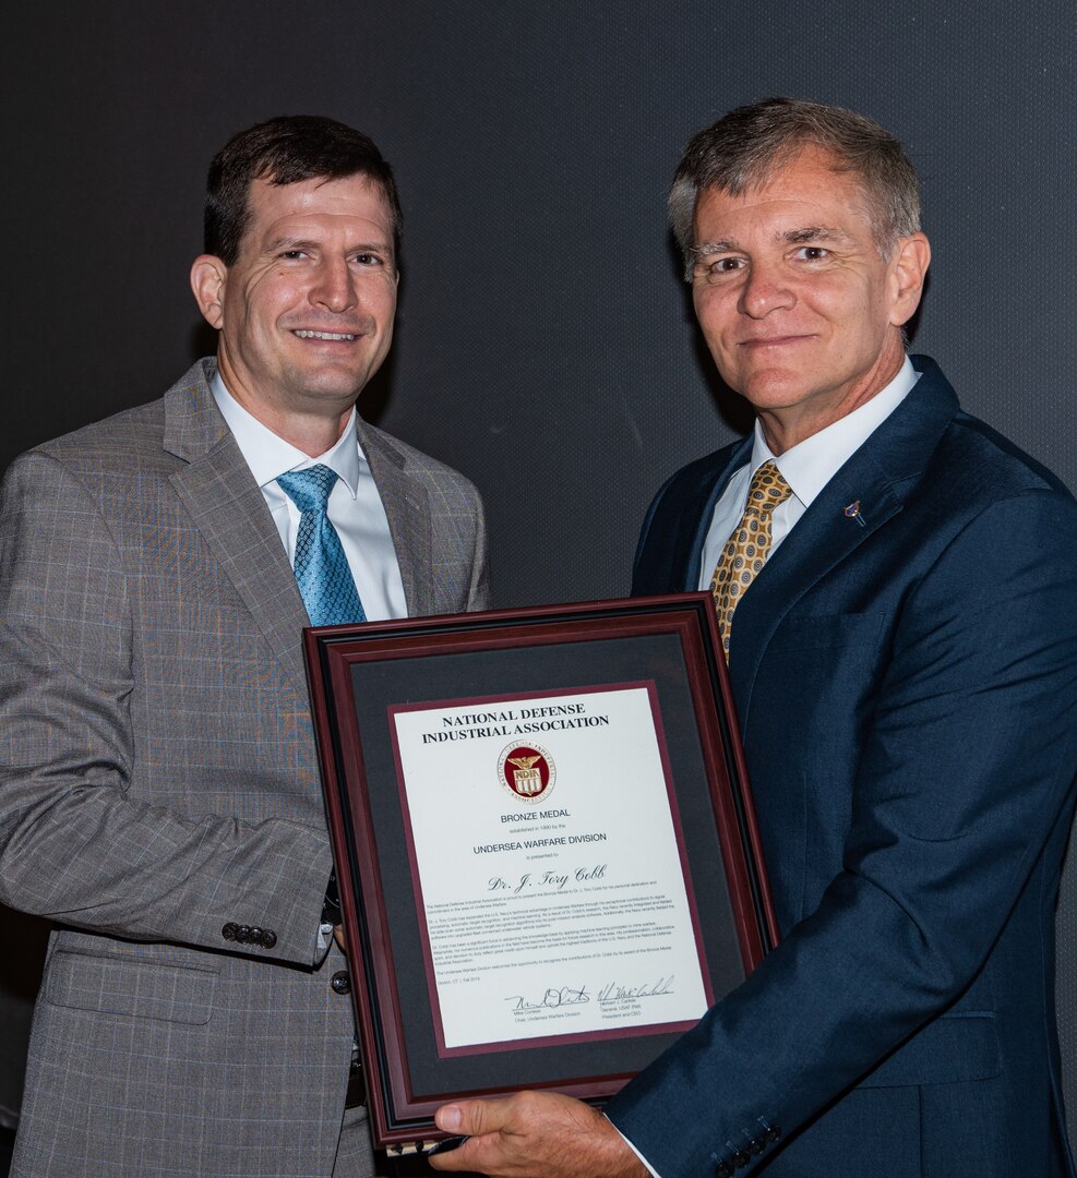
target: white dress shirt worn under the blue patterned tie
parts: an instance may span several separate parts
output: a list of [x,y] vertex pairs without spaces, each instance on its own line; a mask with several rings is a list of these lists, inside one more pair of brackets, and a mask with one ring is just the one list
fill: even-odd
[[329,492],[329,519],[341,537],[366,620],[378,622],[388,617],[407,617],[408,602],[389,534],[389,519],[356,438],[355,409],[337,444],[311,458],[251,416],[225,388],[219,372],[210,388],[265,497],[289,562],[296,563],[299,509],[277,484],[277,476],[319,464],[330,466],[339,477]]

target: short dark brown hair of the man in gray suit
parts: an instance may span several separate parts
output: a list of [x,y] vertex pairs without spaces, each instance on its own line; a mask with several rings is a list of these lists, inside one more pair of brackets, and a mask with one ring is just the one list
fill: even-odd
[[392,211],[394,244],[399,244],[403,214],[392,168],[372,139],[336,119],[288,114],[233,135],[210,164],[206,177],[204,249],[226,266],[239,257],[251,220],[255,180],[298,184],[365,176],[377,184]]

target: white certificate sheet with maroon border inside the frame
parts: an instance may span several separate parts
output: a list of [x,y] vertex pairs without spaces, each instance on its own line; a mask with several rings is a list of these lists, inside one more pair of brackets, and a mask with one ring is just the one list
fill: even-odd
[[443,1055],[703,1014],[653,684],[389,712]]

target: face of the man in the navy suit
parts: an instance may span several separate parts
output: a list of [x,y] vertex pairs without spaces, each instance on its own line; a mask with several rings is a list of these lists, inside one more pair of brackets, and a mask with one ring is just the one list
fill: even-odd
[[855,174],[814,147],[740,197],[699,196],[695,313],[775,454],[864,404],[903,363],[930,250],[914,233],[884,259],[868,207]]

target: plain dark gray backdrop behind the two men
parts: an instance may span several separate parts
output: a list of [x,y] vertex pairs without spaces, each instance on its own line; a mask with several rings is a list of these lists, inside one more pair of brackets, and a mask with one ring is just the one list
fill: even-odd
[[[498,604],[619,596],[655,488],[742,421],[666,185],[698,127],[788,93],[904,140],[934,246],[916,346],[1077,487],[1072,0],[86,0],[8,16],[5,40],[0,466],[212,346],[187,287],[210,155],[273,114],[329,114],[377,140],[405,211],[397,343],[361,408],[478,483]],[[41,934],[4,929],[16,1060]],[[1072,1055],[1072,981],[1061,1002]]]

